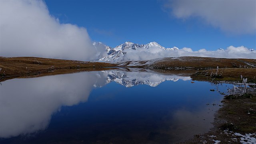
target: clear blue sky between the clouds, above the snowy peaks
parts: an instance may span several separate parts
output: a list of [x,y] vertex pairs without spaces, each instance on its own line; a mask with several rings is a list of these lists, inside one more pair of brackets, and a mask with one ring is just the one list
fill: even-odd
[[92,41],[115,47],[125,41],[164,47],[216,50],[230,45],[256,47],[256,32],[234,34],[200,18],[178,18],[168,1],[155,0],[46,0],[52,16],[60,23],[87,29]]

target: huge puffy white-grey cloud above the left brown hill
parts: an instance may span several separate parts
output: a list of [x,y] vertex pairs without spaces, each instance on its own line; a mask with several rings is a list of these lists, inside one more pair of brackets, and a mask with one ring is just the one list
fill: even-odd
[[60,24],[43,1],[0,1],[0,56],[34,56],[95,60],[104,49],[96,49],[87,30]]

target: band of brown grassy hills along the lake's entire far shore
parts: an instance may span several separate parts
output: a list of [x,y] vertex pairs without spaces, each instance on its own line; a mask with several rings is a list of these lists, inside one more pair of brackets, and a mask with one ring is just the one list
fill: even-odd
[[[151,69],[158,73],[184,73],[184,75],[199,81],[240,81],[240,75],[248,78],[248,82],[256,83],[256,59],[223,59],[210,57],[177,57],[164,58],[147,64],[148,61],[139,61],[140,67]],[[131,61],[122,63],[119,67],[128,67]],[[40,57],[0,57],[0,81],[14,77],[28,77],[32,75],[44,76],[79,71],[97,71],[115,69],[117,64],[84,62],[74,60],[47,59]],[[219,67],[221,77],[212,77]],[[106,68],[108,67],[108,68]],[[184,71],[178,71],[178,70]],[[188,71],[194,70],[194,71]],[[199,69],[199,70],[198,70]],[[195,70],[198,70],[195,73]]]

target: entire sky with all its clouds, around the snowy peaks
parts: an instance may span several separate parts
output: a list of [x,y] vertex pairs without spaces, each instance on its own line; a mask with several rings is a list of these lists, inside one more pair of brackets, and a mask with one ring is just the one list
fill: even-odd
[[180,49],[131,51],[130,60],[256,59],[256,51],[248,50],[256,48],[256,1],[0,0],[0,56],[96,61],[107,53],[94,41],[110,47],[156,41]]

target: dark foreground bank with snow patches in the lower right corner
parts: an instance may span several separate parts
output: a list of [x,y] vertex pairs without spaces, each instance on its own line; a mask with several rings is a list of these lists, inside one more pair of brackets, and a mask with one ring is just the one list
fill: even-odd
[[250,88],[246,94],[238,92],[234,98],[229,96],[224,96],[222,107],[215,113],[214,126],[208,132],[179,144],[255,143],[256,88]]

